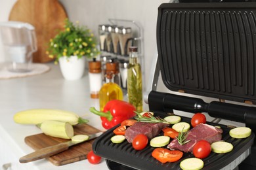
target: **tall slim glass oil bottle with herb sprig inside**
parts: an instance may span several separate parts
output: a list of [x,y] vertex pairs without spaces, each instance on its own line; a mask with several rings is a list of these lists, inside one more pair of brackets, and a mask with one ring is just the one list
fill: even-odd
[[137,112],[142,112],[142,73],[140,63],[138,62],[137,46],[131,46],[129,52],[127,76],[128,101],[137,109]]

